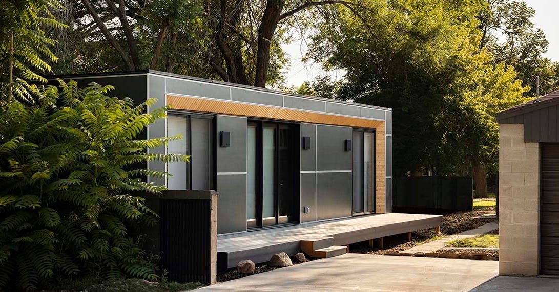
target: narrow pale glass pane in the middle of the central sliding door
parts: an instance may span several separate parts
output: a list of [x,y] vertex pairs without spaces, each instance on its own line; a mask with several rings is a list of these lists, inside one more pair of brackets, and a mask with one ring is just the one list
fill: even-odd
[[274,217],[274,141],[275,128],[264,128],[262,133],[263,151],[262,151],[262,218]]

